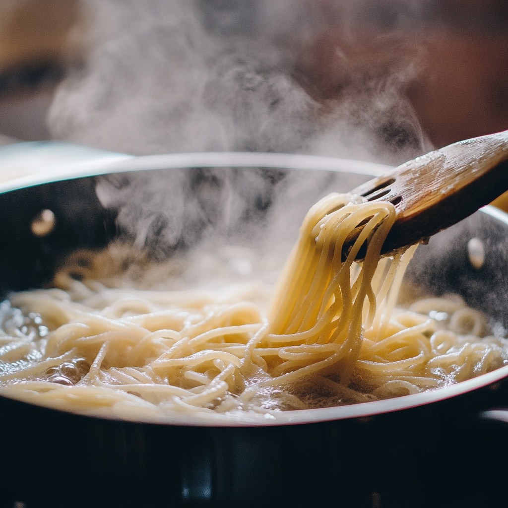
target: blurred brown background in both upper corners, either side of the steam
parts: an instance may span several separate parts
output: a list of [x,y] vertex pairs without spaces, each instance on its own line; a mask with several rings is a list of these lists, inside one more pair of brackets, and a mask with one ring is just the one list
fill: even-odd
[[[338,50],[371,75],[407,42],[418,54],[404,93],[435,147],[508,128],[505,0],[435,0],[417,8],[370,0],[347,37],[334,26],[333,0],[309,2],[329,11],[326,26],[292,49],[297,77],[312,97],[340,93]],[[50,137],[46,113],[55,88],[86,60],[85,11],[80,0],[0,0],[0,142]]]

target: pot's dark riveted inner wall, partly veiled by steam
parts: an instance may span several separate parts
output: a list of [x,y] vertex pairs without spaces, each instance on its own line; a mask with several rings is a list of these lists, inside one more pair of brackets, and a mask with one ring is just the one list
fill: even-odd
[[[259,278],[273,283],[301,221],[320,198],[347,192],[369,176],[358,162],[339,161],[340,171],[264,167],[166,168],[158,160],[150,169],[114,172],[51,181],[10,190],[0,195],[0,291],[48,287],[56,270],[83,250],[99,251],[121,242],[142,252],[155,266],[173,267],[155,278],[139,274],[139,287],[181,289],[217,287]],[[245,164],[243,164],[245,166]],[[369,169],[373,166],[370,164]],[[374,168],[375,170],[375,168]],[[384,168],[380,167],[379,172]],[[367,173],[365,171],[364,173]],[[104,171],[98,171],[104,173]],[[54,214],[47,234],[34,232],[43,210]],[[475,267],[470,241],[484,249],[484,263]],[[78,256],[79,258],[79,256]],[[76,261],[76,259],[74,259]],[[78,259],[79,264],[79,259]],[[149,271],[150,269],[148,269]],[[458,294],[472,308],[484,312],[501,336],[508,328],[508,219],[487,207],[432,237],[417,249],[406,272],[406,287],[415,295]],[[285,411],[255,425],[305,423],[371,415],[447,398],[492,383],[508,374],[508,367],[434,392],[376,402],[324,409]],[[247,417],[209,419],[174,415],[167,423],[185,425],[252,425]]]

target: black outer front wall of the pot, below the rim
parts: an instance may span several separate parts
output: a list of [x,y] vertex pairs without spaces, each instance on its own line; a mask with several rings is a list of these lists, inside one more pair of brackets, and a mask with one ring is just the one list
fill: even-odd
[[0,398],[5,506],[498,506],[505,428],[478,418],[508,380],[364,418],[184,427]]

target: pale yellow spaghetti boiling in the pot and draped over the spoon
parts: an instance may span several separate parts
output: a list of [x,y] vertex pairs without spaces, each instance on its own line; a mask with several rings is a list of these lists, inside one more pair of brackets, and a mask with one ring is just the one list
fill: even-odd
[[480,338],[485,317],[459,298],[395,307],[416,247],[380,258],[394,220],[392,204],[351,195],[314,205],[269,312],[254,303],[256,283],[150,292],[60,274],[67,291],[14,294],[0,308],[1,393],[139,420],[269,416],[417,393],[506,363],[506,340]]

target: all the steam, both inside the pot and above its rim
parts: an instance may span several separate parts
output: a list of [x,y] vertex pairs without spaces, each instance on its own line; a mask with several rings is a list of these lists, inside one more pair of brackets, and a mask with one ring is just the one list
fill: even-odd
[[[403,95],[418,51],[386,34],[382,57],[372,41],[356,44],[364,4],[86,0],[88,58],[56,93],[52,135],[131,154],[272,151],[402,163],[430,148]],[[390,30],[418,4],[398,5]],[[323,52],[331,56],[320,66]],[[276,250],[280,261],[315,201],[359,183],[221,168],[110,175],[97,192],[116,210],[120,237],[150,259],[201,242],[201,252],[217,255],[227,245]]]

